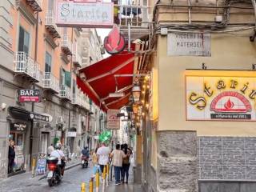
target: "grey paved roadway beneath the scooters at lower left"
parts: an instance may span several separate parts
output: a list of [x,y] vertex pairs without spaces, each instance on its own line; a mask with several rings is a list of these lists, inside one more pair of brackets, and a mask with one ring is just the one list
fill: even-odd
[[81,183],[88,182],[93,174],[92,168],[82,169],[81,166],[76,166],[70,170],[66,170],[62,183],[58,186],[49,187],[46,179],[42,177],[31,178],[30,174],[19,174],[5,181],[0,182],[1,192],[70,192],[80,191]]

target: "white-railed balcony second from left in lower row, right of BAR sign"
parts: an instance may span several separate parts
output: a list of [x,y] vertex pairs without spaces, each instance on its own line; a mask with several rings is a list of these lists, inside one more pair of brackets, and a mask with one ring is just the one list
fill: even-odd
[[49,90],[54,94],[59,93],[59,81],[58,78],[55,78],[50,72],[45,72],[42,78],[42,87],[45,90]]

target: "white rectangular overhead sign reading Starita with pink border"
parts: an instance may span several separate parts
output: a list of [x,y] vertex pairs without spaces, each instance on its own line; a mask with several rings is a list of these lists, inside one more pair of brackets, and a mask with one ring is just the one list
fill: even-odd
[[114,23],[113,2],[56,1],[57,26],[111,28]]

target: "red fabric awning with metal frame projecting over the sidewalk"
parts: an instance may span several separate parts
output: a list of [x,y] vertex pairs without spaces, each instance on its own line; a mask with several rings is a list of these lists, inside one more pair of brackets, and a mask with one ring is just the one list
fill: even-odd
[[[77,83],[102,110],[120,109],[129,102],[133,84],[134,54],[122,51],[91,66],[79,70]],[[82,78],[84,77],[84,78]],[[109,94],[123,93],[122,98],[110,98]]]

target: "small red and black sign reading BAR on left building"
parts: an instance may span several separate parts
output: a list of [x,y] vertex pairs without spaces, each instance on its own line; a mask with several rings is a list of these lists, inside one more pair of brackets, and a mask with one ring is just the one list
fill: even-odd
[[40,90],[18,90],[18,102],[40,102]]

